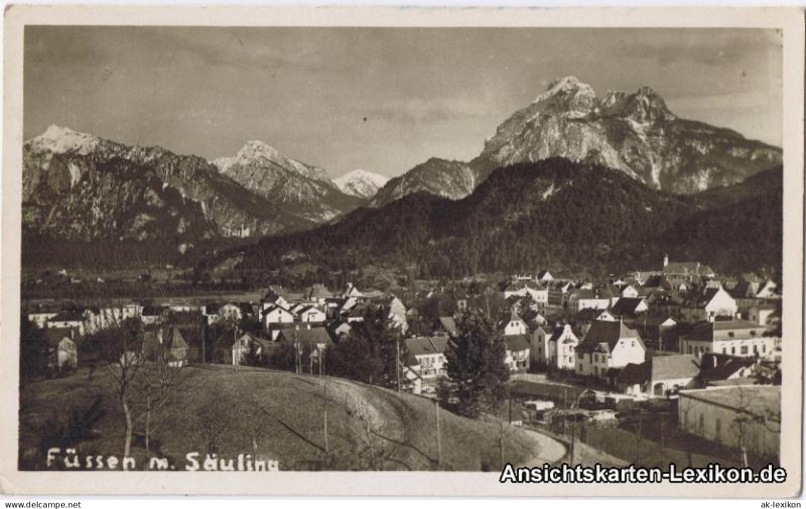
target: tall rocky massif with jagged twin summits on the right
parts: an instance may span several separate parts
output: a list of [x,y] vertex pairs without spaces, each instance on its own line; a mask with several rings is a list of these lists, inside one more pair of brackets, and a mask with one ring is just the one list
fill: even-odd
[[694,193],[781,164],[780,148],[672,113],[649,87],[609,91],[563,77],[516,111],[469,162],[432,158],[393,178],[372,199],[382,206],[418,191],[463,198],[501,166],[560,156],[619,169],[655,189]]

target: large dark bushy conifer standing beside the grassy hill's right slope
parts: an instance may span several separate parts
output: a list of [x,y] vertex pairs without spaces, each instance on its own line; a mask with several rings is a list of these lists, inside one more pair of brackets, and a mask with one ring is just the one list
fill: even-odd
[[459,413],[475,418],[506,396],[506,344],[490,320],[477,311],[459,319],[457,328],[459,334],[446,352],[449,382],[442,398],[447,406],[457,398]]

